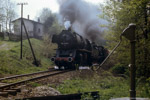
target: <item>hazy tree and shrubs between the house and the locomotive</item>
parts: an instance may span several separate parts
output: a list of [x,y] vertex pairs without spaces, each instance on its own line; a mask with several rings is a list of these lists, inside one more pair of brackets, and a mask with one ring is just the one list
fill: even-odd
[[41,22],[44,24],[44,36],[43,36],[43,54],[44,56],[51,58],[54,53],[54,49],[57,45],[51,43],[51,37],[53,34],[59,34],[64,28],[57,19],[57,14],[52,13],[50,9],[44,8],[40,13]]

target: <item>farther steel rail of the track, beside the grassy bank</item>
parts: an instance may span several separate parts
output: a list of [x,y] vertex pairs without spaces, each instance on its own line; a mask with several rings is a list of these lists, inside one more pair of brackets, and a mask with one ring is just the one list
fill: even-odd
[[30,75],[42,74],[42,73],[47,73],[47,72],[51,72],[51,71],[55,71],[55,69],[47,70],[47,71],[40,71],[40,72],[35,72],[35,73],[29,73],[29,74],[14,75],[14,76],[10,76],[10,77],[4,77],[4,78],[0,78],[0,81],[7,80],[7,79],[13,79],[13,78],[19,78],[19,77],[25,77],[25,76],[30,76]]

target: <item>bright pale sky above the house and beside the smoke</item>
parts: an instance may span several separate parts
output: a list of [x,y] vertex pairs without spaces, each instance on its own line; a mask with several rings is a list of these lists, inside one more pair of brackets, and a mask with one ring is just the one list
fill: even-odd
[[[30,19],[36,19],[42,10],[42,8],[50,8],[52,12],[58,12],[59,11],[59,5],[57,3],[57,0],[12,0],[17,3],[28,3],[24,6],[24,18],[27,18],[27,15],[30,15]],[[95,5],[98,5],[99,3],[102,3],[104,0],[86,0],[89,3],[93,3]],[[16,12],[18,16],[21,14],[21,7],[18,5],[16,7]]]

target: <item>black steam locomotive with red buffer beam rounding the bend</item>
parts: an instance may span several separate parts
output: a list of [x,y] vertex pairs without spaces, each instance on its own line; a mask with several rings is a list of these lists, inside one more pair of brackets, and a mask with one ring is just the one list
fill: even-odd
[[63,30],[58,35],[53,35],[52,43],[58,44],[56,55],[51,60],[61,68],[74,69],[77,66],[91,66],[100,64],[108,55],[108,50],[97,46],[81,35]]

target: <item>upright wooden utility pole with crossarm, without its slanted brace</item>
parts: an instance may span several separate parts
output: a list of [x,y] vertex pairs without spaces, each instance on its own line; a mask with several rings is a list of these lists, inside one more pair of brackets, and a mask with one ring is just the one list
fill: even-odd
[[23,25],[23,5],[27,5],[27,3],[18,3],[17,5],[21,5],[21,36],[20,36],[20,59],[22,59],[22,25]]

